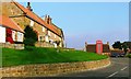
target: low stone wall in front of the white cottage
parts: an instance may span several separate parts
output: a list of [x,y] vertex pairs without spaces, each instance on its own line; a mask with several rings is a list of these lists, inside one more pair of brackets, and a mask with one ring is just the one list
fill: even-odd
[[14,49],[24,49],[24,44],[0,43],[0,47],[14,48]]

